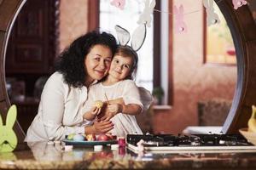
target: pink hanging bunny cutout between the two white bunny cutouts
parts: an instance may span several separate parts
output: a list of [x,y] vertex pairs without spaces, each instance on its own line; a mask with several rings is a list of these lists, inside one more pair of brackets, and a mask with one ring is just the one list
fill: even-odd
[[183,21],[184,20],[184,9],[183,5],[180,5],[179,8],[177,8],[176,5],[174,5],[173,8],[173,14],[175,14],[175,31],[178,33],[187,32],[187,25]]

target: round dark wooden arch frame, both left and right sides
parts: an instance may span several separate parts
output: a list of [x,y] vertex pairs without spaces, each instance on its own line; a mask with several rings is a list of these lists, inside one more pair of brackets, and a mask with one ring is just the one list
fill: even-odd
[[[256,26],[247,6],[234,10],[231,0],[215,0],[224,14],[236,46],[237,84],[233,104],[229,116],[224,122],[224,133],[237,133],[240,127],[247,126],[251,115],[251,105],[256,104]],[[0,0],[0,112],[5,122],[10,106],[5,88],[5,54],[9,32],[16,15],[26,0]],[[25,134],[18,122],[15,123],[15,133],[19,141]]]

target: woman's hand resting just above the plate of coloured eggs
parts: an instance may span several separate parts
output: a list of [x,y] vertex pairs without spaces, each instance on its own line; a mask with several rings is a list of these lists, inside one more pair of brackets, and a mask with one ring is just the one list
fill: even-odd
[[113,123],[110,121],[102,121],[102,122],[95,121],[92,126],[94,127],[94,131],[96,134],[108,133],[108,131],[113,129]]

